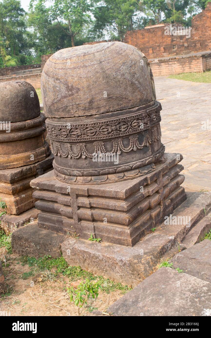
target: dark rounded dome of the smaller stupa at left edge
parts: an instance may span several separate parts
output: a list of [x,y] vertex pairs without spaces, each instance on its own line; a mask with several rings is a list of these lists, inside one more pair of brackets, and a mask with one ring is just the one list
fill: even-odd
[[34,119],[40,115],[39,98],[30,83],[1,82],[0,95],[0,121],[13,123]]

